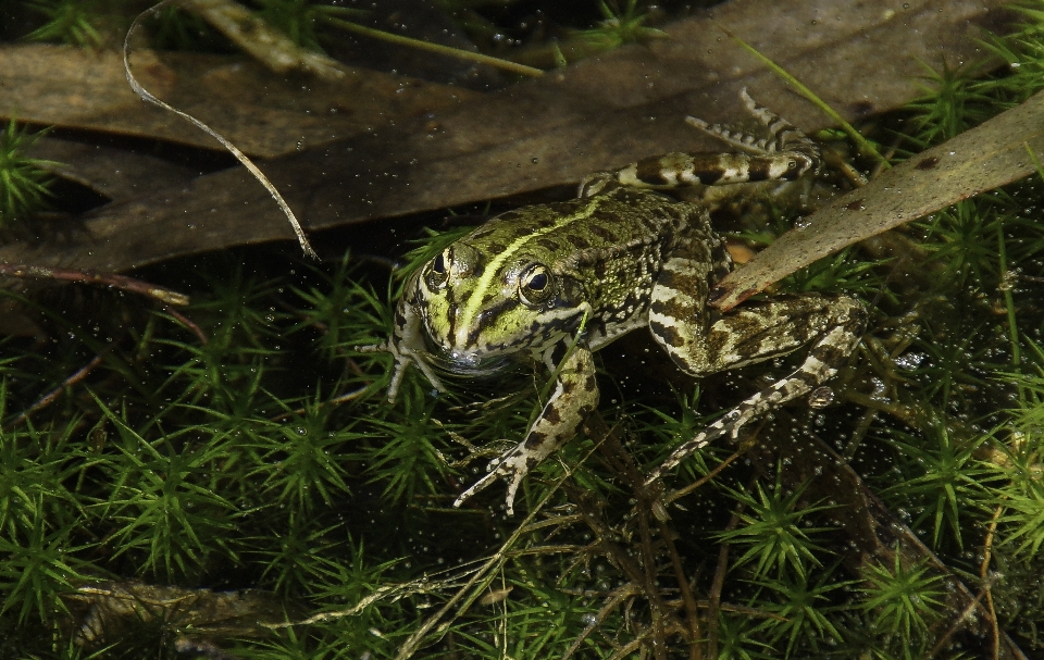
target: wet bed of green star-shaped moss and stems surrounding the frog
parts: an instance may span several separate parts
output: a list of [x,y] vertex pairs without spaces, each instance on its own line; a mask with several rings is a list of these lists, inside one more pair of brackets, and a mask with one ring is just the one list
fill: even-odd
[[[115,2],[28,4],[30,39],[97,47],[128,23]],[[307,47],[337,13],[254,9]],[[606,42],[656,38],[641,4],[586,10],[587,30],[629,35]],[[867,137],[903,160],[1044,89],[1044,4],[1021,20],[989,40],[1005,66],[927,72]],[[161,34],[212,38],[186,21]],[[50,199],[27,139],[14,122],[0,137],[0,222]],[[390,254],[355,231],[339,260],[257,247],[135,274],[187,307],[0,289],[16,326],[0,339],[0,657],[1044,658],[1037,167],[788,278],[861,298],[862,346],[815,406],[689,458],[663,490],[644,475],[796,357],[694,383],[664,378],[644,333],[597,353],[600,410],[514,516],[502,485],[450,505],[522,436],[543,371],[436,397],[412,370],[393,406],[389,357],[357,350],[459,223],[420,219],[435,229]],[[722,222],[755,245],[792,220]]]

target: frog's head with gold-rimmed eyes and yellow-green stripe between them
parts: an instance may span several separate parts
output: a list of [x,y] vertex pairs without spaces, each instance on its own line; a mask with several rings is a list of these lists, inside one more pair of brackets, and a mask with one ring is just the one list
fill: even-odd
[[419,271],[413,286],[433,352],[452,371],[542,352],[576,331],[587,304],[548,254],[476,247],[465,237]]

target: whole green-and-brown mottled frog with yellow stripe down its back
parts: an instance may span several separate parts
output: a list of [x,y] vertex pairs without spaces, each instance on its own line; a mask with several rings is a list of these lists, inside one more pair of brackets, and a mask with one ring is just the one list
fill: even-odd
[[686,117],[733,148],[672,152],[585,177],[575,199],[506,211],[456,240],[407,276],[390,336],[360,350],[388,352],[394,403],[411,366],[434,390],[439,374],[484,374],[511,361],[543,365],[554,383],[514,446],[490,461],[460,507],[497,480],[505,509],[525,476],[575,437],[597,410],[593,353],[647,328],[671,361],[701,378],[808,347],[792,373],[763,387],[683,441],[647,475],[668,471],[750,420],[832,378],[858,345],[867,312],[856,298],[815,292],[769,296],[721,312],[713,285],[733,261],[707,204],[670,197],[687,186],[794,182],[820,167],[816,144],[742,90],[746,111],[768,134],[756,137]]

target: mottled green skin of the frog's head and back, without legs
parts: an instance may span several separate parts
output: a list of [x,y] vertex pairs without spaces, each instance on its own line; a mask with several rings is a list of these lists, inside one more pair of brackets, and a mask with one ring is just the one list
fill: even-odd
[[[520,352],[549,361],[548,351],[572,338],[585,315],[592,350],[644,325],[664,256],[683,242],[703,252],[704,286],[708,275],[729,271],[731,260],[705,209],[616,188],[498,215],[446,249],[443,261],[452,264],[447,277],[433,277],[430,262],[407,291],[414,292],[409,302],[431,347],[450,369]],[[538,304],[519,295],[520,277],[533,264],[550,275],[551,292]]]

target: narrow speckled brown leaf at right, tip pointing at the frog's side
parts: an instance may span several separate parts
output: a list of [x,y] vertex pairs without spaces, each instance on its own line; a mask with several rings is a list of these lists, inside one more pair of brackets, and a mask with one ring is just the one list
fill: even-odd
[[1044,161],[1044,92],[833,200],[725,277],[713,304],[735,307],[817,259],[1020,179],[1034,158]]

